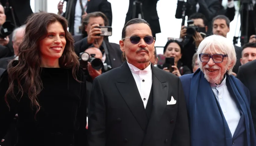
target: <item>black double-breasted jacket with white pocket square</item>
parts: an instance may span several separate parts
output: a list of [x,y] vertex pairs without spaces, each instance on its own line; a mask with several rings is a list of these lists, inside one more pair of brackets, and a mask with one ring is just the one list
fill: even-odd
[[[186,103],[180,79],[152,68],[153,108],[147,116],[125,61],[94,79],[88,110],[89,146],[189,146]],[[166,105],[171,97],[176,104]]]

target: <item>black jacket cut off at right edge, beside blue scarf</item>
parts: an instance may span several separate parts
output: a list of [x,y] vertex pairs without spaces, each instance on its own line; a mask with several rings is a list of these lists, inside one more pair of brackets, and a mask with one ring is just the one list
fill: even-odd
[[251,116],[256,132],[256,60],[248,62],[239,67],[236,76],[250,91],[251,95]]

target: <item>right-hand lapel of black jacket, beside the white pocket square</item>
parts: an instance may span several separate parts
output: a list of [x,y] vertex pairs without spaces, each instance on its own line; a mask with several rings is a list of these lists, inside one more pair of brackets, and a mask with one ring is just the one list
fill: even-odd
[[157,125],[158,121],[161,119],[167,104],[168,92],[170,93],[172,90],[169,87],[168,82],[166,82],[166,79],[161,75],[161,72],[153,65],[151,65],[151,68],[153,75],[153,109],[148,123],[144,145],[147,141],[150,141],[152,134],[155,133],[155,125]]

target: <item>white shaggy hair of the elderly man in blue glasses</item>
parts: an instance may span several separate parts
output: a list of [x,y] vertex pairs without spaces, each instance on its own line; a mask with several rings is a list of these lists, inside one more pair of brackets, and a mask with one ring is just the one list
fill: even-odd
[[[218,48],[219,51],[217,51],[216,48]],[[228,62],[226,67],[232,65],[228,70],[228,74],[231,75],[232,69],[236,64],[236,51],[233,42],[220,35],[211,35],[206,37],[197,49],[197,62],[199,64],[202,64],[199,59],[199,54],[205,53],[206,50],[209,50],[210,54],[227,54],[226,58],[228,59]]]

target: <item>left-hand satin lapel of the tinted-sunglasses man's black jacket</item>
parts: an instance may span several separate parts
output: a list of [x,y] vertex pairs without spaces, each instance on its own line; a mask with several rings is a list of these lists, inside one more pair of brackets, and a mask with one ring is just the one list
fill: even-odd
[[133,116],[139,123],[140,127],[143,130],[146,130],[148,118],[136,82],[126,61],[123,63],[121,68],[122,72],[120,73],[121,75],[118,79],[119,81],[116,82],[116,87],[131,110]]

